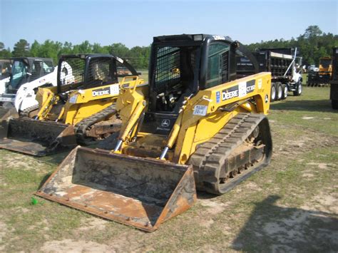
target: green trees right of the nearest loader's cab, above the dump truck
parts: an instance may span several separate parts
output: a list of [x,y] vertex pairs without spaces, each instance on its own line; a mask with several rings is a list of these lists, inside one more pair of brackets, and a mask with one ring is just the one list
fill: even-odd
[[303,63],[306,65],[315,64],[318,66],[319,58],[331,56],[332,48],[338,46],[338,36],[332,33],[323,33],[319,26],[309,26],[304,33],[297,39],[291,38],[285,41],[283,38],[274,41],[261,41],[260,43],[251,43],[248,45],[250,51],[257,48],[294,48],[299,50],[299,56],[302,56]]

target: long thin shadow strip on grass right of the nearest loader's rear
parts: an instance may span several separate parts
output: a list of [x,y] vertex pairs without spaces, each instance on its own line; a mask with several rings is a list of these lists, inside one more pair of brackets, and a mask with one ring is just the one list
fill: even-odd
[[270,104],[271,110],[308,110],[317,112],[337,112],[331,107],[331,101],[327,100],[283,100]]

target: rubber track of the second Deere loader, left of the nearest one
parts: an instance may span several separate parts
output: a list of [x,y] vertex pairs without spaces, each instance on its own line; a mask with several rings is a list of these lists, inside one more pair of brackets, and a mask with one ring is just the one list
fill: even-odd
[[107,108],[104,108],[103,110],[100,110],[98,113],[94,113],[88,118],[81,120],[74,127],[76,133],[76,140],[78,140],[78,142],[81,142],[83,144],[88,144],[88,140],[86,140],[86,130],[91,125],[98,123],[101,120],[104,120],[109,115],[113,115],[114,113],[116,113],[115,103],[113,105],[108,106]]

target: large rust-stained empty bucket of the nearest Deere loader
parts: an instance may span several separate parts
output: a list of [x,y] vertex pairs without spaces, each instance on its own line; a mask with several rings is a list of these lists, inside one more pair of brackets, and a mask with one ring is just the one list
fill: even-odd
[[148,232],[196,200],[191,165],[81,146],[36,195]]

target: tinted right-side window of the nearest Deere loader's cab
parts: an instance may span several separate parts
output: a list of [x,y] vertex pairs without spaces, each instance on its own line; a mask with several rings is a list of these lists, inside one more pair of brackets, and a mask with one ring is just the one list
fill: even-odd
[[205,88],[218,86],[229,80],[229,45],[212,43],[208,48],[208,69]]

